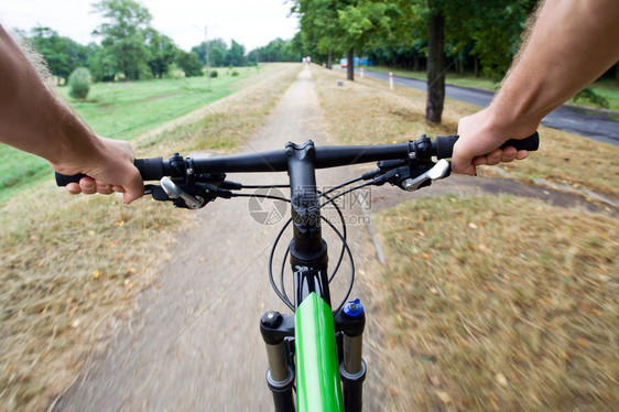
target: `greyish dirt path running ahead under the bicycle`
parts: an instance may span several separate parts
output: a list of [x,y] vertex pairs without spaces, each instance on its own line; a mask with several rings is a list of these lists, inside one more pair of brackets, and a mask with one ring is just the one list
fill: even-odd
[[[306,68],[243,150],[279,149],[289,140],[326,144],[324,130]],[[326,176],[327,185],[343,180],[321,173],[319,182]],[[286,181],[285,174],[230,178],[248,184]],[[162,269],[161,288],[143,293],[139,314],[89,361],[56,410],[272,410],[258,325],[267,310],[285,312],[265,273],[279,225],[254,221],[245,199],[218,199],[198,216],[197,227],[184,234],[175,258]],[[370,358],[373,346],[368,345]],[[373,410],[373,401],[367,402]]]

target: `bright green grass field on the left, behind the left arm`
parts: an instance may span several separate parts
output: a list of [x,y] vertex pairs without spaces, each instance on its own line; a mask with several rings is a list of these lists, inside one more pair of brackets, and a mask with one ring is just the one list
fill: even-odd
[[[207,77],[170,78],[141,82],[98,83],[85,101],[68,97],[68,88],[59,94],[97,134],[131,140],[139,134],[230,95],[235,86],[254,75],[256,68],[236,68],[238,76],[225,69]],[[199,94],[199,95],[198,95]],[[47,178],[47,162],[32,154],[0,145],[0,202],[24,187]]]

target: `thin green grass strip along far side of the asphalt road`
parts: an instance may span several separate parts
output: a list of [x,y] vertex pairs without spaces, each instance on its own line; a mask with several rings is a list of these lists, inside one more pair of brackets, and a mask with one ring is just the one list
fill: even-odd
[[[390,68],[387,66],[369,66],[365,67],[368,71],[381,72],[381,73],[393,73],[397,76],[412,77],[420,80],[425,80],[427,78],[426,72],[414,72],[399,68]],[[474,74],[459,75],[456,73],[448,72],[445,75],[445,82],[454,86],[463,87],[474,87],[487,90],[497,90],[500,86],[500,80],[496,80],[490,77],[479,76],[476,77]],[[591,89],[608,100],[609,110],[619,111],[619,82],[612,79],[601,79],[593,83],[590,85]],[[587,101],[574,101],[574,99],[568,100],[569,104],[586,106],[591,108],[597,108],[597,106],[591,105]]]

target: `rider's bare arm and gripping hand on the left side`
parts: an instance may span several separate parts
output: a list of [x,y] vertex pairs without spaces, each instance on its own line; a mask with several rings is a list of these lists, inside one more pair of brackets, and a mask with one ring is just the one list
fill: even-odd
[[90,131],[44,84],[1,25],[0,142],[44,158],[59,173],[91,177],[68,185],[70,193],[122,192],[124,203],[144,193],[129,143]]

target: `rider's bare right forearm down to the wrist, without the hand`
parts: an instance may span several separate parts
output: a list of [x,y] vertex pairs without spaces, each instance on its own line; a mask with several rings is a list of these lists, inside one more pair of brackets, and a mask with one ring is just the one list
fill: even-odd
[[546,0],[491,105],[497,122],[526,134],[604,74],[619,59],[618,19],[617,0]]

